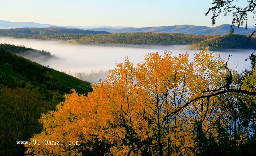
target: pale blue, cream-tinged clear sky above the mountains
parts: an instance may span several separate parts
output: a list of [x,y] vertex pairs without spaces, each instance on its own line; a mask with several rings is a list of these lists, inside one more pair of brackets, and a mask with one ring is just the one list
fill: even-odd
[[[212,26],[211,0],[4,0],[0,20],[75,26]],[[238,5],[245,5],[244,0]],[[249,16],[251,17],[251,16]],[[250,19],[250,18],[249,18]],[[254,25],[253,20],[248,25]],[[230,24],[222,15],[216,25]]]

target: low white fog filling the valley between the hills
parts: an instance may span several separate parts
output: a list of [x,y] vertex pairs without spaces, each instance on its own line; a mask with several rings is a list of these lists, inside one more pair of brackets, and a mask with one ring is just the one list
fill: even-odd
[[[14,45],[24,45],[38,50],[46,50],[61,59],[38,58],[30,55],[22,55],[34,62],[44,66],[49,65],[58,71],[64,71],[85,81],[96,83],[100,79],[104,79],[108,70],[115,67],[116,62],[123,62],[128,56],[134,64],[144,62],[144,54],[150,52],[158,52],[163,54],[164,51],[170,51],[173,54],[187,52],[190,60],[198,50],[187,50],[187,46],[140,46],[140,47],[108,47],[108,46],[92,46],[92,45],[71,45],[63,44],[58,41],[41,41],[30,39],[14,39],[9,37],[0,37],[0,43],[8,43]],[[222,58],[230,57],[229,65],[233,69],[242,72],[245,68],[250,68],[250,61],[245,61],[253,50],[228,50],[216,51],[221,52]]]

